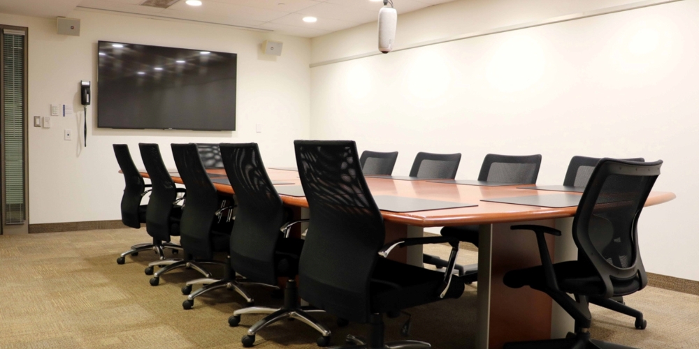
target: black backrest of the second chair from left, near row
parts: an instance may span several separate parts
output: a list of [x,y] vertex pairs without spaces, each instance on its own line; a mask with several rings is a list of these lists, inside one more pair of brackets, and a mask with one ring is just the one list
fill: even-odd
[[148,235],[160,241],[170,241],[173,202],[177,198],[177,188],[168,169],[163,163],[158,144],[139,143],[140,157],[150,177],[152,191],[145,214],[145,230]]

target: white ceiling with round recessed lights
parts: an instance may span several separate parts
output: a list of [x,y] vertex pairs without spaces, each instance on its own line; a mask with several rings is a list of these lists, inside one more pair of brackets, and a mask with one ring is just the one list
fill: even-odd
[[[38,17],[64,17],[77,8],[168,17],[248,27],[312,38],[359,24],[374,22],[382,1],[371,0],[201,0],[189,6],[173,0],[168,8],[143,6],[148,0],[0,0],[0,13]],[[452,0],[394,0],[398,14]],[[150,0],[152,2],[152,0]],[[167,1],[166,1],[167,2]],[[317,22],[303,22],[303,17]]]

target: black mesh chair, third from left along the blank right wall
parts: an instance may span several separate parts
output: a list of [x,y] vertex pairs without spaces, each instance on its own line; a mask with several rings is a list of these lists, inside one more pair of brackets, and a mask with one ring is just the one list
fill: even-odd
[[[493,181],[498,183],[511,184],[535,184],[539,177],[541,166],[541,155],[498,155],[487,154],[483,159],[479,181]],[[455,237],[463,242],[470,242],[478,246],[478,225],[460,225],[456,227],[442,228],[442,236]],[[423,255],[422,261],[426,264],[435,265],[438,268],[447,267],[447,261],[436,255]],[[456,265],[459,276],[464,276],[463,280],[473,283],[478,278],[478,265]]]

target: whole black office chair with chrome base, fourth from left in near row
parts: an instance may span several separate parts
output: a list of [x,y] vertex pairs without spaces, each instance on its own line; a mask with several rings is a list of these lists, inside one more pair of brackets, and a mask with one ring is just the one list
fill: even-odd
[[[298,304],[296,274],[303,240],[289,237],[291,214],[272,185],[256,143],[221,144],[223,163],[238,198],[236,225],[231,233],[231,266],[247,281],[278,285],[278,277],[287,279],[282,308],[259,306],[238,309],[229,318],[237,326],[243,314],[268,314],[249,329],[243,346],[254,344],[255,335],[264,327],[285,318],[298,319],[321,333],[317,343],[327,346],[330,331],[308,313],[318,311]],[[308,220],[304,220],[308,221]]]

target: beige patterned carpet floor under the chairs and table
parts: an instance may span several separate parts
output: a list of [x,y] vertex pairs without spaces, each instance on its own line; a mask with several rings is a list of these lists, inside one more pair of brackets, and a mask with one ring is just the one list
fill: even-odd
[[[94,230],[0,236],[0,348],[240,348],[247,327],[261,316],[243,317],[229,327],[228,316],[243,306],[234,292],[217,290],[182,310],[182,284],[199,278],[192,270],[166,274],[152,287],[143,274],[155,255],[146,252],[117,265],[131,244],[147,242],[144,230]],[[428,251],[447,255],[446,246]],[[463,251],[462,263],[476,253]],[[218,272],[218,271],[217,271]],[[251,288],[259,306],[279,305],[267,288]],[[460,299],[409,309],[412,339],[435,348],[473,348],[475,288]],[[633,319],[593,306],[593,338],[638,348],[699,348],[699,297],[649,287],[627,297],[645,313],[648,328]],[[331,315],[317,315],[333,332],[333,345],[365,327],[338,328]],[[387,319],[388,339],[401,339],[405,317]],[[283,321],[257,336],[257,348],[316,348],[317,332],[298,321]]]

